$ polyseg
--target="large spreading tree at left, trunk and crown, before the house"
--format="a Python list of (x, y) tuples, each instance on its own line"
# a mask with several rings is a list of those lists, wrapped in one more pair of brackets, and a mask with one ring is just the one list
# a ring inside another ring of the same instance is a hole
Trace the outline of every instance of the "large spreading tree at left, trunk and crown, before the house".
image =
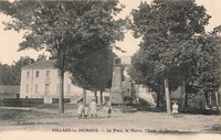
[[(123, 39), (118, 1), (1, 1), (0, 11), (13, 18), (8, 30), (27, 31), (19, 51), (45, 50), (61, 73), (59, 111), (64, 112), (63, 83), (67, 65)], [(94, 44), (94, 45), (91, 45)]]

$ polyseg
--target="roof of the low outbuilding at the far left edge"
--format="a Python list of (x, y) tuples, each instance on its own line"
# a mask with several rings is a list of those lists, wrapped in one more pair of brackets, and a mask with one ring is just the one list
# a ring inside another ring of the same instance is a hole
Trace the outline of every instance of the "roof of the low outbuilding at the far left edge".
[(0, 94), (19, 94), (20, 86), (2, 86), (0, 85)]

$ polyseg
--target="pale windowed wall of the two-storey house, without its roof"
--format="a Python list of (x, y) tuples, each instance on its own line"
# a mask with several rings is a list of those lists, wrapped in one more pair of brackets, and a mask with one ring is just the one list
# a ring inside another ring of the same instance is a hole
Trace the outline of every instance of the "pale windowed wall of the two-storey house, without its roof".
[[(22, 69), (21, 98), (59, 97), (60, 75), (57, 69)], [(71, 83), (70, 74), (64, 75), (64, 97), (82, 94), (82, 88)]]

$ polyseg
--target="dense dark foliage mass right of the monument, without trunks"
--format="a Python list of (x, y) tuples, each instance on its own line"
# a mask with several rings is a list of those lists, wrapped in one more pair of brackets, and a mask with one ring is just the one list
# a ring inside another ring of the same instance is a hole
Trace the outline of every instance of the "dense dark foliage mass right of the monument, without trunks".
[(210, 35), (204, 35), (210, 15), (202, 6), (193, 0), (156, 0), (151, 4), (140, 2), (131, 14), (134, 36), (141, 37), (140, 49), (133, 56), (133, 67), (141, 75), (138, 77), (143, 84), (158, 91), (168, 78), (171, 90), (183, 80), (200, 88), (217, 89), (211, 86), (218, 85), (214, 78), (217, 45)]

